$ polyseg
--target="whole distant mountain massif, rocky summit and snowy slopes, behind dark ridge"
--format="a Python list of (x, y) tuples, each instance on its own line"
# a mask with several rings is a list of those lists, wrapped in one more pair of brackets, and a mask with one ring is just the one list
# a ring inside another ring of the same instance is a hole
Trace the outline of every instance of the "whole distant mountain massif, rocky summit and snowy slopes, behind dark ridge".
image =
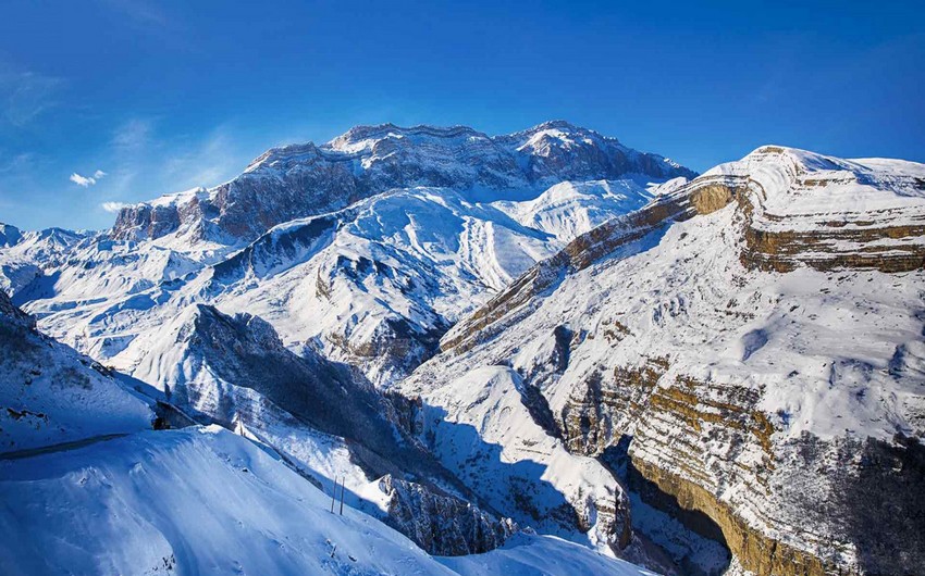
[[(57, 251), (21, 240), (0, 262), (29, 271), (3, 278), (42, 329), (130, 373), (136, 337), (203, 302), (387, 386), (535, 262), (691, 174), (563, 122), (503, 137), (359, 127), (125, 209)], [(181, 215), (146, 220), (160, 210)]]

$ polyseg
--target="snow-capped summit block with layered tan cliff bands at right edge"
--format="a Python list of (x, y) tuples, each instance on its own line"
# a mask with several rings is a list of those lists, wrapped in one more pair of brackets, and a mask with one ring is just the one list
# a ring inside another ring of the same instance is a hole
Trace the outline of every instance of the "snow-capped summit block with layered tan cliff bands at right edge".
[[(881, 272), (925, 265), (925, 209), (916, 202), (925, 193), (925, 174), (918, 165), (899, 162), (901, 166), (885, 168), (877, 161), (807, 160), (775, 147), (758, 149), (743, 164), (725, 177), (752, 189), (741, 197), (747, 265), (777, 272), (800, 264)], [(787, 195), (767, 190), (781, 186)], [(893, 198), (878, 198), (878, 188), (895, 191)], [(850, 195), (853, 201), (839, 203), (834, 195)], [(818, 196), (831, 197), (831, 203)]]

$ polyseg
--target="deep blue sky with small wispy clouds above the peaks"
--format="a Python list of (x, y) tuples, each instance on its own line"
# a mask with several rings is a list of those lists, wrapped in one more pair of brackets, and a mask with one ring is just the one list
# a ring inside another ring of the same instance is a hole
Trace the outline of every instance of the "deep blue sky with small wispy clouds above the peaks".
[(921, 17), (889, 1), (13, 0), (0, 222), (108, 227), (107, 208), (382, 122), (565, 118), (699, 171), (770, 142), (925, 161)]

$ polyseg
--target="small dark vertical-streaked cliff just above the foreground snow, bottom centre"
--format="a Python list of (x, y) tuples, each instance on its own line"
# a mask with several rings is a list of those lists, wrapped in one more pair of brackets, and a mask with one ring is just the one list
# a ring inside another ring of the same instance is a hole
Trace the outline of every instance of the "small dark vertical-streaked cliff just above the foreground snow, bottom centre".
[(497, 519), (465, 500), (439, 494), (421, 485), (386, 475), (379, 489), (387, 497), (388, 525), (434, 555), (480, 554), (494, 550), (517, 531), (509, 518)]

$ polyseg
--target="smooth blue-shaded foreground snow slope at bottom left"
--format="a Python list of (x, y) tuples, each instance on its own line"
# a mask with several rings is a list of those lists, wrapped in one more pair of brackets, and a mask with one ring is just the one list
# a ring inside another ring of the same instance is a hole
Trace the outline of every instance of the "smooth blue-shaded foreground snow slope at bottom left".
[[(39, 574), (649, 574), (552, 538), (432, 559), (218, 426), (0, 460), (0, 572)], [(92, 538), (87, 538), (87, 535)], [(591, 573), (589, 572), (589, 573)]]

